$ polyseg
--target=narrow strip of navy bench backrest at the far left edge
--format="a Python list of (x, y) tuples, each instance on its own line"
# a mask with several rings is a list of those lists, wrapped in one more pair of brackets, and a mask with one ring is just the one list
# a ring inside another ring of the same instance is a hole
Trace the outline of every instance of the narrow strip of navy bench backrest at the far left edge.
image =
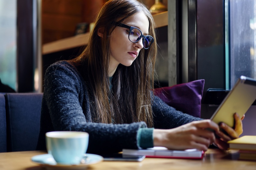
[(2, 93), (0, 93), (0, 152), (6, 152), (5, 99)]

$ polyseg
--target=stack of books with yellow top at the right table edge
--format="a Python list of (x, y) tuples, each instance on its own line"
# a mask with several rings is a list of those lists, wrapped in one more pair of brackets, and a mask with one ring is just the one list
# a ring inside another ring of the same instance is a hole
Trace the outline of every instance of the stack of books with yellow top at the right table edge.
[(228, 141), (230, 149), (239, 150), (239, 159), (256, 160), (256, 136), (243, 136)]

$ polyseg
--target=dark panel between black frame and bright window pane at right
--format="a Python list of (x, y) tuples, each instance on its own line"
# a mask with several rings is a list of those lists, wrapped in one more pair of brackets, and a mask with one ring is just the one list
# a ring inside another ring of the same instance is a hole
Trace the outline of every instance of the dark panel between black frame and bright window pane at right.
[(224, 1), (197, 0), (197, 78), (204, 91), (225, 86)]

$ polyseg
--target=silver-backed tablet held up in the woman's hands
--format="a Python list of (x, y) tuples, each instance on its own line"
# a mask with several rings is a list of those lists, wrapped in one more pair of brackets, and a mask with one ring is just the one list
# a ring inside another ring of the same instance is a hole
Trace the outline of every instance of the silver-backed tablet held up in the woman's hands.
[(256, 80), (241, 76), (233, 89), (221, 102), (211, 120), (217, 124), (226, 123), (234, 127), (234, 114), (242, 117), (256, 99)]

